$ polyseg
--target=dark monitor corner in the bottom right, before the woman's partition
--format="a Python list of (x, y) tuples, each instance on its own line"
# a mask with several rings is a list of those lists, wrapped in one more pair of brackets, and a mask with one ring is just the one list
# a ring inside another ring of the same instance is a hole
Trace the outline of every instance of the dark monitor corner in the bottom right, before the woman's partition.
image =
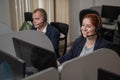
[(120, 75), (105, 69), (98, 69), (98, 80), (120, 80)]

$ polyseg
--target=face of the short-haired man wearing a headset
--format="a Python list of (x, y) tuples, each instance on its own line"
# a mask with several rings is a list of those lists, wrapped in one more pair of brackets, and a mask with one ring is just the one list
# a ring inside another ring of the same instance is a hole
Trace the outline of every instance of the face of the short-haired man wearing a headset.
[(33, 18), (33, 24), (34, 24), (35, 28), (42, 26), (43, 16), (42, 16), (41, 12), (37, 11), (37, 12), (33, 13), (32, 18)]

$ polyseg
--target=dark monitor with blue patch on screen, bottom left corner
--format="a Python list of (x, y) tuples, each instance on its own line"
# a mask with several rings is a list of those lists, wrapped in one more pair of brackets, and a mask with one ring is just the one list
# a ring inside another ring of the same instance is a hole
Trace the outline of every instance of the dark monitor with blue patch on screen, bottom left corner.
[(0, 50), (1, 80), (21, 80), (25, 77), (25, 62)]

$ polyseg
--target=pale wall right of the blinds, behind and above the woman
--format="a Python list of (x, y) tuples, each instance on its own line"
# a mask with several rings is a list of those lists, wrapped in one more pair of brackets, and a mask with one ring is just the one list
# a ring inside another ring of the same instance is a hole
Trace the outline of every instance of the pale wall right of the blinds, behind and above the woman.
[(70, 0), (70, 41), (74, 41), (80, 35), (79, 11), (103, 4), (120, 6), (120, 0)]

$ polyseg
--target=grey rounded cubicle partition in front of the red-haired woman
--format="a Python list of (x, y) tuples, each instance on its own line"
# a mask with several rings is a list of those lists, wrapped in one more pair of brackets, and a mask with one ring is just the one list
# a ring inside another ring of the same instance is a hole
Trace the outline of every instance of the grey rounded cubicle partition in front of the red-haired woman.
[(98, 70), (120, 75), (120, 58), (110, 49), (99, 49), (90, 55), (75, 58), (61, 65), (61, 80), (98, 80)]

